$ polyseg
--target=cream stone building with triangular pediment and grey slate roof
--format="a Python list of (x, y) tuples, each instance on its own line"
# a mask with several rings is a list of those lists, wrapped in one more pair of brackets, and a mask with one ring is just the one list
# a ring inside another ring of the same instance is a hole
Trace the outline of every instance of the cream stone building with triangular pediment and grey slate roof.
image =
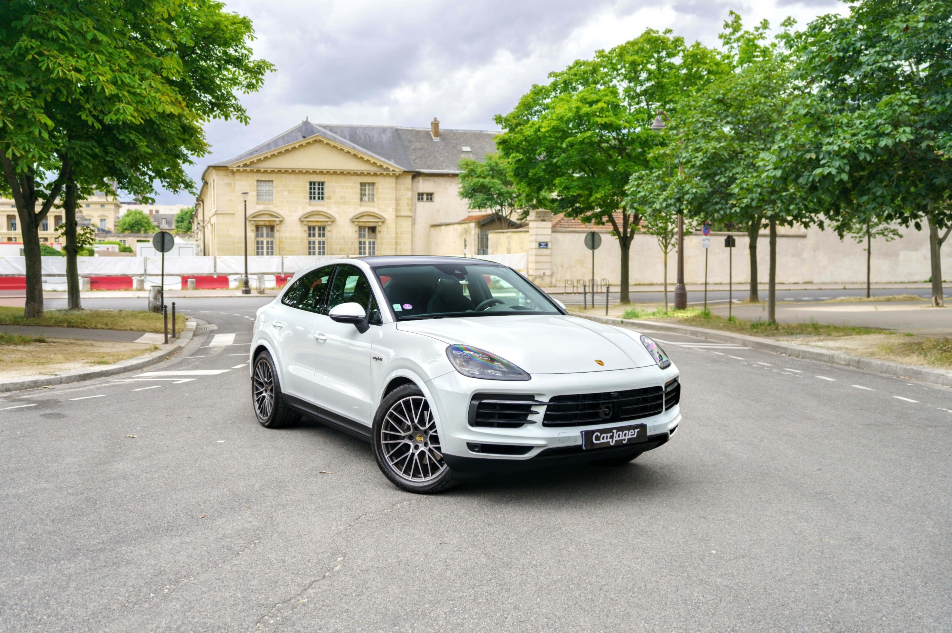
[[(209, 165), (195, 203), (206, 255), (423, 254), (431, 225), (466, 217), (462, 158), (495, 151), (496, 132), (308, 121), (228, 161)], [(474, 251), (475, 252), (475, 251)]]

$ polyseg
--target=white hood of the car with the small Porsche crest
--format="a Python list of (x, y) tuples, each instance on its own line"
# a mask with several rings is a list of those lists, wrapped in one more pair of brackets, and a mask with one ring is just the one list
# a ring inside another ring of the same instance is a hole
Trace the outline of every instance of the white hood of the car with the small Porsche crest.
[(578, 317), (546, 314), (427, 319), (400, 321), (397, 328), (447, 345), (480, 347), (530, 374), (655, 366), (645, 346), (636, 340), (636, 332)]

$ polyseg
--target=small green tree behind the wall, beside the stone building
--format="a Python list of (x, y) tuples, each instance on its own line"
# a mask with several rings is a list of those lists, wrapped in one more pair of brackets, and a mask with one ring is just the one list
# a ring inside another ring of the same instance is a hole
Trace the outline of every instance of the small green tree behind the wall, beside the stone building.
[(467, 208), (487, 209), (506, 220), (512, 219), (513, 214), (517, 220), (526, 219), (528, 211), (505, 158), (499, 154), (486, 154), (482, 161), (464, 158), (459, 167), (459, 195), (466, 200)]

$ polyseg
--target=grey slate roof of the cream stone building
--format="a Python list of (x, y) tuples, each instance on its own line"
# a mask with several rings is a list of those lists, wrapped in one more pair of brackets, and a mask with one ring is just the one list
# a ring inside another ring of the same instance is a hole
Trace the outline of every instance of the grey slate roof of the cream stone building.
[[(496, 151), (494, 137), (498, 133), (476, 129), (441, 129), (440, 140), (434, 141), (429, 128), (318, 126), (303, 121), (256, 148), (210, 167), (227, 167), (272, 149), (320, 135), (407, 171), (459, 173), (457, 165), (461, 158), (483, 160), (487, 153)], [(463, 146), (468, 146), (471, 151), (464, 152)]]

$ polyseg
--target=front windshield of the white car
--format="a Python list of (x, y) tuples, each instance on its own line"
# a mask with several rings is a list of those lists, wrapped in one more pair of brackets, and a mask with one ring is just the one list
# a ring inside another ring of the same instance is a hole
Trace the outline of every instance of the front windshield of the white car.
[(560, 314), (545, 294), (502, 266), (374, 268), (400, 321), (499, 314)]

